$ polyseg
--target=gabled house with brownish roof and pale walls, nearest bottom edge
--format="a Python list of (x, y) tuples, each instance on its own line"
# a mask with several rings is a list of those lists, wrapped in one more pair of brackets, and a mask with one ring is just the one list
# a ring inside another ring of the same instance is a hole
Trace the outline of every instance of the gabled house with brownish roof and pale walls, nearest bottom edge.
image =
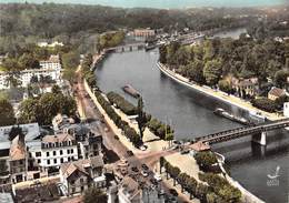
[(60, 166), (60, 182), (67, 195), (82, 193), (90, 186), (104, 187), (106, 176), (101, 155), (63, 163)]

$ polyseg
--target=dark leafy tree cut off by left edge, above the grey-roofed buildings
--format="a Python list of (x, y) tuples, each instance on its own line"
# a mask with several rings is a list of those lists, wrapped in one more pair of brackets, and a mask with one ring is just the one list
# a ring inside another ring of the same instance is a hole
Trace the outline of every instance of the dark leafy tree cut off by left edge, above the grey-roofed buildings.
[(16, 123), (13, 108), (7, 99), (0, 99), (0, 126), (11, 125)]

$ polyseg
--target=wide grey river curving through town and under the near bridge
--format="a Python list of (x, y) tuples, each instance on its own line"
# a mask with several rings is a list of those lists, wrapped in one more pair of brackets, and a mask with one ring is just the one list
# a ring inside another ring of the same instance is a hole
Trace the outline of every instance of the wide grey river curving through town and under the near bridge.
[[(195, 136), (240, 126), (238, 123), (212, 113), (216, 108), (227, 109), (235, 114), (246, 115), (238, 108), (186, 88), (163, 75), (157, 68), (157, 50), (144, 52), (112, 53), (98, 67), (96, 74), (99, 87), (104, 91), (116, 91), (136, 104), (136, 99), (126, 94), (121, 87), (129, 83), (143, 97), (144, 109), (153, 116), (170, 123), (177, 139)], [(268, 145), (252, 144), (250, 138), (213, 145), (226, 156), (231, 176), (246, 189), (268, 203), (288, 202), (289, 133), (271, 132)], [(280, 173), (271, 180), (277, 168)], [(273, 185), (272, 185), (273, 184)]]

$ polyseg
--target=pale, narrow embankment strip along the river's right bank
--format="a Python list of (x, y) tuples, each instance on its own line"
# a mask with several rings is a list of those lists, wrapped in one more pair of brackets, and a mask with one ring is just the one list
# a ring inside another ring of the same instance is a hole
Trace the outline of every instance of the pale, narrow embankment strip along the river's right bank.
[(210, 89), (209, 87), (200, 87), (196, 83), (192, 83), (192, 82), (189, 81), (189, 79), (169, 70), (165, 64), (162, 64), (160, 62), (158, 62), (157, 65), (162, 73), (165, 73), (167, 77), (171, 78), (172, 80), (175, 80), (175, 81), (177, 81), (177, 82), (179, 82), (183, 85), (187, 85), (191, 89), (195, 89), (195, 90), (197, 90), (197, 91), (199, 91), (199, 92), (201, 92), (206, 95), (209, 95), (209, 97), (211, 97), (216, 100), (219, 100), (219, 101), (225, 102), (225, 103), (230, 104), (230, 105), (235, 105), (235, 106), (240, 108), (240, 109), (242, 109), (247, 112), (260, 112), (262, 115), (265, 115), (270, 121), (285, 119), (283, 116), (280, 116), (277, 113), (269, 113), (269, 112), (259, 110), (259, 109), (252, 106), (250, 102), (245, 101), (245, 100), (237, 98), (235, 95), (228, 95), (225, 92)]

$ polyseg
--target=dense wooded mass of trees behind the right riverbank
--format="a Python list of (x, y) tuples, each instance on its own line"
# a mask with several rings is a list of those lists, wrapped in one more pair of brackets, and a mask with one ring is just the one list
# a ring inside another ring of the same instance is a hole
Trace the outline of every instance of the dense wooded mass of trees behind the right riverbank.
[(160, 48), (160, 62), (200, 84), (217, 85), (221, 79), (233, 75), (257, 77), (260, 83), (272, 78), (277, 87), (283, 88), (289, 68), (288, 47), (288, 40), (256, 41), (246, 34), (238, 40), (208, 39), (192, 47), (172, 42)]

